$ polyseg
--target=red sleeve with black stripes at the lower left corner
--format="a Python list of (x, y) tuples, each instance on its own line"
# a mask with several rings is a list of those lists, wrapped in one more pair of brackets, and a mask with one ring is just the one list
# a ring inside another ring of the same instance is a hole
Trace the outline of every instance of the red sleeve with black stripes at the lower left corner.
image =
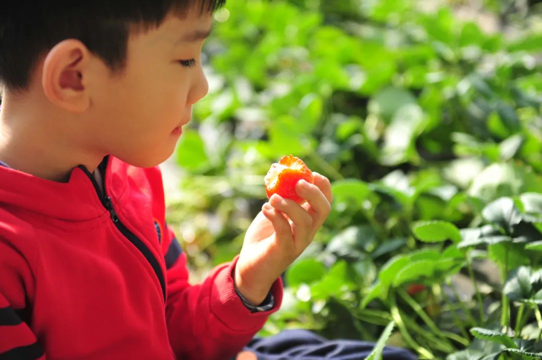
[(46, 360), (27, 324), (27, 288), (33, 277), (26, 259), (2, 237), (0, 274), (0, 359)]

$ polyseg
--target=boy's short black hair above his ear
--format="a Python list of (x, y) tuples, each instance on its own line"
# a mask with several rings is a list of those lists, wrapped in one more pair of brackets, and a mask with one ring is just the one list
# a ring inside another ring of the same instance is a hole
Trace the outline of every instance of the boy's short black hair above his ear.
[(111, 70), (124, 68), (134, 26), (159, 26), (171, 11), (212, 12), (225, 0), (15, 0), (0, 9), (0, 83), (28, 88), (40, 56), (79, 39)]

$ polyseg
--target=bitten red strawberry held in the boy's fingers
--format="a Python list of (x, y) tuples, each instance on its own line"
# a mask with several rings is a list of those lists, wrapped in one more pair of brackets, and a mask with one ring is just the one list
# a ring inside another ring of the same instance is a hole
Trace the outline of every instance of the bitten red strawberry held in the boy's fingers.
[(295, 184), (301, 179), (314, 184), (314, 176), (307, 165), (298, 157), (293, 155), (283, 156), (279, 163), (271, 165), (264, 178), (267, 197), (279, 194), (283, 198), (292, 199), (298, 204), (305, 202), (295, 192)]

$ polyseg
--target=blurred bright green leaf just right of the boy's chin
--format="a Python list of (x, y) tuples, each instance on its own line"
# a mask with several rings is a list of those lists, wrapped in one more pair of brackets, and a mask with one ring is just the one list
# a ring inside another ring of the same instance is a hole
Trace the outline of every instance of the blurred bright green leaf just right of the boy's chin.
[(188, 129), (180, 137), (177, 146), (177, 164), (190, 172), (199, 172), (209, 166), (203, 139), (196, 130)]

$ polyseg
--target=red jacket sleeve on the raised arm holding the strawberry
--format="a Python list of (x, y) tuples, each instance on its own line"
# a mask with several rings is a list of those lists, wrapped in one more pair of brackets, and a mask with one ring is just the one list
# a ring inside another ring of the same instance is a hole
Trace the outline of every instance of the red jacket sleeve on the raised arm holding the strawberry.
[[(151, 183), (153, 212), (160, 217), (160, 212), (165, 212), (162, 176), (154, 178)], [(280, 278), (271, 289), (275, 298), (273, 309), (251, 313), (235, 293), (231, 274), (237, 257), (230, 263), (217, 266), (203, 283), (192, 285), (189, 283), (186, 254), (165, 220), (162, 229), (160, 245), (167, 269), (166, 321), (173, 352), (182, 359), (230, 358), (241, 351), (263, 327), (269, 315), (280, 308)]]

